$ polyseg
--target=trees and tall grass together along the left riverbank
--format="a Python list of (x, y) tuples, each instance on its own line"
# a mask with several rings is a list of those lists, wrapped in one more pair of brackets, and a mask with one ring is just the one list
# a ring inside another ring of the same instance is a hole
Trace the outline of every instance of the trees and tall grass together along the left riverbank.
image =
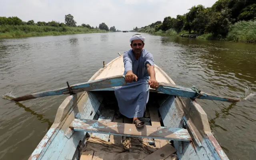
[(120, 32), (115, 26), (108, 28), (105, 23), (99, 24), (99, 27), (93, 27), (89, 24), (76, 26), (76, 21), (71, 14), (65, 15), (65, 23), (56, 21), (37, 22), (29, 20), (23, 22), (18, 17), (0, 17), (0, 38), (14, 37), (32, 37), (48, 35), (65, 35), (65, 34), (84, 34), (99, 32)]

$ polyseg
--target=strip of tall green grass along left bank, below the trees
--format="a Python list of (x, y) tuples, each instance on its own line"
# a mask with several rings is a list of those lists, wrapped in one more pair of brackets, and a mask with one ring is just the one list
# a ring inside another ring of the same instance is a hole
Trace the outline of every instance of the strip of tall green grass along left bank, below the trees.
[(83, 34), (107, 32), (100, 29), (86, 27), (53, 27), (53, 26), (30, 26), (30, 25), (0, 25), (0, 38), (50, 36), (63, 34)]

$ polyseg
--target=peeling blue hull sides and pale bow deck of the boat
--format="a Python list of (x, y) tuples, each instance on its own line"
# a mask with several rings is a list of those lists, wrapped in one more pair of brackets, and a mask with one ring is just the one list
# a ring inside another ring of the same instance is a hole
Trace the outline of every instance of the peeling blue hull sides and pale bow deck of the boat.
[[(158, 81), (175, 84), (157, 65), (155, 65), (155, 70)], [(121, 55), (99, 69), (89, 81), (122, 75), (122, 73)], [(78, 160), (89, 134), (74, 131), (69, 128), (69, 125), (74, 119), (97, 120), (104, 107), (104, 98), (108, 99), (106, 96), (114, 94), (113, 91), (114, 87), (111, 87), (68, 96), (58, 108), (54, 123), (29, 160)], [(108, 93), (103, 94), (104, 92)], [(154, 89), (150, 89), (150, 95), (157, 100), (157, 109), (164, 126), (186, 128), (192, 137), (190, 142), (176, 140), (173, 142), (179, 160), (228, 160), (211, 133), (206, 113), (196, 101), (190, 98), (159, 94)]]

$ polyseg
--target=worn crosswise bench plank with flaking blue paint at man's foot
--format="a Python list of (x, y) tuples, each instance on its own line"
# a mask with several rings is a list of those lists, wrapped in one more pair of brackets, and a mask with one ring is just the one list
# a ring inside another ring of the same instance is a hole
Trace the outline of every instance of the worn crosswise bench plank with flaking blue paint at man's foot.
[(136, 128), (134, 124), (120, 122), (108, 122), (88, 119), (74, 119), (69, 128), (75, 131), (114, 134), (122, 136), (134, 136), (144, 138), (156, 138), (178, 141), (190, 141), (188, 130), (183, 128), (166, 128), (156, 126), (144, 126)]

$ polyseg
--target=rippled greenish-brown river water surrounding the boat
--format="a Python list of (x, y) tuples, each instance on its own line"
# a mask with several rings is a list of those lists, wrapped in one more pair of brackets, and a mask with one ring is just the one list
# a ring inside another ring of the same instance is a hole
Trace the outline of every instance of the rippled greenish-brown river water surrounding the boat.
[[(0, 95), (20, 96), (86, 82), (130, 49), (135, 33), (0, 40)], [(238, 103), (198, 100), (231, 160), (256, 157), (256, 45), (144, 34), (145, 49), (178, 85), (196, 85)], [(254, 96), (255, 95), (255, 96)], [(0, 98), (0, 160), (26, 160), (54, 122), (66, 95), (21, 103)]]

